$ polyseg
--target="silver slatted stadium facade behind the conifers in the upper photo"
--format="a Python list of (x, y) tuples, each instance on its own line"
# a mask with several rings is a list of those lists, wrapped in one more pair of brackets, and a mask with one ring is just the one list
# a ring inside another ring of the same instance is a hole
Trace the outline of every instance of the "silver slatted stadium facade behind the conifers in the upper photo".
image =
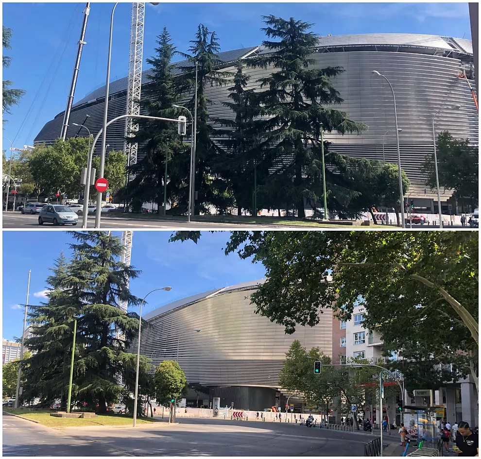
[[(219, 58), (225, 71), (234, 71), (236, 60), (267, 52), (262, 46), (250, 47), (221, 52)], [(325, 138), (332, 142), (331, 149), (353, 157), (397, 162), (392, 92), (384, 79), (373, 75), (372, 70), (389, 78), (396, 95), (398, 126), (402, 129), (399, 136), (401, 166), (412, 183), (409, 197), (414, 199), (415, 207), (437, 212), (435, 192), (425, 189), (421, 173), (421, 165), (433, 149), (431, 121), (434, 114), (442, 107), (460, 105), (459, 110), (444, 110), (436, 117), (436, 133), (448, 130), (453, 136), (468, 138), (474, 144), (479, 141), (478, 113), (466, 80), (459, 77), (465, 72), (475, 86), (471, 41), (420, 34), (328, 36), (319, 39), (312, 58), (316, 68), (344, 68), (344, 73), (333, 78), (334, 87), (344, 99), (336, 108), (349, 113), (351, 119), (367, 124), (368, 130), (359, 136), (341, 136), (333, 132)], [(175, 72), (179, 73), (186, 65), (186, 61), (176, 63)], [(270, 71), (272, 69), (247, 69), (251, 87), (258, 86), (256, 80)], [(150, 72), (143, 72), (143, 84), (148, 82), (146, 76)], [(109, 120), (125, 113), (126, 90), (127, 78), (110, 84)], [(83, 123), (88, 114), (86, 126), (92, 134), (97, 133), (102, 125), (104, 95), (105, 89), (101, 87), (76, 102), (70, 121)], [(221, 103), (227, 101), (226, 86), (207, 88), (206, 96), (212, 101), (209, 111), (213, 118), (233, 118), (233, 113)], [(45, 124), (34, 143), (52, 143), (60, 136), (62, 120), (63, 112)], [(123, 149), (124, 125), (124, 121), (119, 121), (108, 128), (109, 150)], [(393, 131), (385, 135), (388, 130)], [(86, 135), (84, 131), (81, 135)], [(68, 137), (76, 134), (77, 129), (69, 129)], [(98, 152), (100, 143), (96, 148)], [(447, 213), (447, 199), (451, 193), (442, 190), (442, 194), (443, 210)]]

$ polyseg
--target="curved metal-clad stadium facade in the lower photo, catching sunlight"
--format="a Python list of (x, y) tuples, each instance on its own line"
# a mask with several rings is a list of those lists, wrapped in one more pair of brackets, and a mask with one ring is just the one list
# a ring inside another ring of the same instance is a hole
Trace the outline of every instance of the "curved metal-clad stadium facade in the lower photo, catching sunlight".
[[(179, 365), (188, 381), (206, 386), (277, 387), (293, 340), (331, 356), (331, 309), (324, 309), (315, 327), (299, 326), (286, 335), (283, 326), (255, 314), (256, 306), (250, 304), (254, 291), (255, 287), (227, 289), (151, 317), (142, 332), (140, 352), (158, 365), (177, 360), (178, 344)], [(136, 348), (133, 342), (131, 350)]]

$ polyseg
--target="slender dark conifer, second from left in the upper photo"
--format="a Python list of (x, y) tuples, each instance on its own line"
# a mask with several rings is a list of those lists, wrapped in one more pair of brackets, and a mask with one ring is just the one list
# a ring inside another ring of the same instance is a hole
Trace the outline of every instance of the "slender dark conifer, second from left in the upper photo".
[(209, 125), (209, 112), (206, 98), (206, 87), (222, 86), (228, 83), (230, 73), (221, 72), (219, 40), (215, 32), (209, 32), (206, 26), (200, 24), (195, 40), (189, 53), (178, 52), (189, 61), (189, 65), (182, 68), (182, 73), (175, 79), (175, 87), (182, 97), (189, 97), (187, 102), (192, 115), (194, 115), (195, 99), (195, 69), (197, 63), (197, 138), (194, 189), (198, 198), (195, 202), (195, 213), (208, 213), (208, 204), (223, 213), (233, 204), (228, 193), (228, 184), (223, 176), (216, 173), (214, 165), (217, 163), (222, 151), (213, 142), (214, 129)]

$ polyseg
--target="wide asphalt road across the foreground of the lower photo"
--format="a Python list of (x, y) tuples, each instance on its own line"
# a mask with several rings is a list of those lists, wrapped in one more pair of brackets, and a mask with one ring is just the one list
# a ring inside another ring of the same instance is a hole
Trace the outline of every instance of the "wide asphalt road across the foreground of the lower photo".
[[(49, 429), (3, 417), (3, 456), (347, 456), (364, 455), (363, 432), (296, 424), (179, 418), (179, 424)], [(398, 442), (396, 436), (386, 443)]]

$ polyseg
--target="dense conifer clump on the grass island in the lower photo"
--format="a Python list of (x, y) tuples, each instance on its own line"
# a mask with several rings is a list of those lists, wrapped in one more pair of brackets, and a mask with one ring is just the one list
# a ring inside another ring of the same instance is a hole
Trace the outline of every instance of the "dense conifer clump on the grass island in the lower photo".
[[(71, 232), (71, 260), (59, 258), (48, 283), (52, 287), (46, 305), (34, 306), (30, 322), (39, 325), (38, 336), (28, 340), (35, 351), (27, 380), (33, 396), (53, 400), (68, 387), (73, 320), (77, 337), (72, 395), (78, 403), (105, 412), (125, 391), (134, 390), (137, 356), (125, 351), (137, 337), (138, 315), (119, 306), (136, 306), (127, 280), (140, 272), (120, 262), (123, 247), (108, 232)], [(120, 336), (117, 331), (120, 331)], [(141, 371), (148, 372), (146, 358)], [(122, 388), (120, 377), (125, 384)]]

